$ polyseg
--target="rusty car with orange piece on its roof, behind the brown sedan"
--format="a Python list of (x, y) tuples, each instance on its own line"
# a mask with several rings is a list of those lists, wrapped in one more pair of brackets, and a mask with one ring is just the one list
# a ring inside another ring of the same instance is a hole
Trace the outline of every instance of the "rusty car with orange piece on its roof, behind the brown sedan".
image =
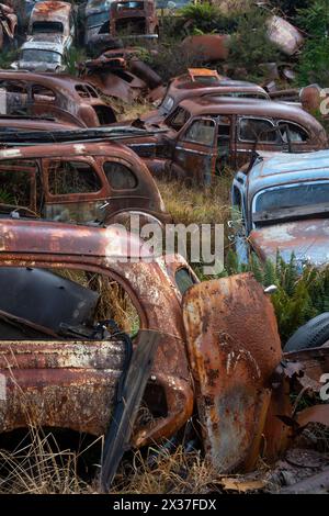
[(186, 75), (172, 79), (159, 108), (143, 115), (147, 123), (160, 123), (182, 100), (197, 97), (232, 97), (270, 100), (266, 91), (252, 82), (220, 77), (216, 70), (189, 69)]

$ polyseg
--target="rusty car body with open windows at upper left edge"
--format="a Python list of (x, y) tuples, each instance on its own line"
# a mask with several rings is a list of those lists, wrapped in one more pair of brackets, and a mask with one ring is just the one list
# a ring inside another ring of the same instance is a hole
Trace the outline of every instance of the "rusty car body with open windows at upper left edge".
[(1, 105), (9, 115), (46, 115), (79, 127), (106, 125), (116, 120), (112, 108), (91, 85), (69, 76), (0, 71), (0, 89), (5, 93)]

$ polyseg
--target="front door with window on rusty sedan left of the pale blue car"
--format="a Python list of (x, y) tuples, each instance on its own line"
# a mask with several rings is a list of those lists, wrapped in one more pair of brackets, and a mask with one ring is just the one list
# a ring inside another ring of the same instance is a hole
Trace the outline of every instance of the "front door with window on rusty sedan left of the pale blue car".
[(217, 158), (216, 134), (216, 119), (194, 117), (178, 135), (171, 172), (189, 182), (209, 186)]

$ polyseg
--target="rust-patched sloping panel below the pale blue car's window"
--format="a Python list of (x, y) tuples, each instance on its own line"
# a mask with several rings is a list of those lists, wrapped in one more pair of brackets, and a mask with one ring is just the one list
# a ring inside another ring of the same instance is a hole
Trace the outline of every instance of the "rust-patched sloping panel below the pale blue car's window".
[(329, 262), (329, 220), (286, 222), (253, 229), (249, 242), (261, 260), (275, 259), (279, 251), (288, 261), (294, 253), (299, 262), (321, 266)]

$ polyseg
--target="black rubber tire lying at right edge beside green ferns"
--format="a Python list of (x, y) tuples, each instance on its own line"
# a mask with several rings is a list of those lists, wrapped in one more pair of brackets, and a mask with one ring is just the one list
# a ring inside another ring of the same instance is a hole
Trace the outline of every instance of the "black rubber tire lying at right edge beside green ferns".
[(319, 348), (329, 340), (329, 312), (308, 321), (300, 326), (284, 346), (284, 352)]

